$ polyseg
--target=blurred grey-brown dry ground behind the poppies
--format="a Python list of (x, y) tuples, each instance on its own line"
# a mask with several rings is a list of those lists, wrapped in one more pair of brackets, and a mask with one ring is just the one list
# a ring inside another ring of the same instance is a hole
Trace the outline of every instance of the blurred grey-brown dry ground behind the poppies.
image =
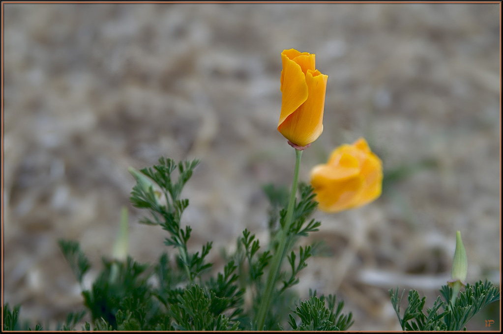
[[(499, 284), (497, 3), (4, 9), (4, 299), (23, 317), (80, 309), (56, 241), (78, 240), (99, 269), (128, 205), (128, 166), (202, 160), (185, 222), (194, 245), (215, 241), (212, 256), (245, 227), (266, 235), (261, 185), (290, 186), (293, 174), (294, 152), (276, 130), (280, 54), (290, 48), (315, 53), (328, 75), (324, 132), (303, 155), (301, 180), (360, 136), (385, 172), (434, 163), (385, 183), (367, 206), (317, 213), (312, 240), (333, 256), (310, 260), (301, 295), (337, 293), (352, 330), (398, 330), (387, 290), (414, 287), (433, 302), (456, 230), (468, 281)], [(130, 254), (154, 261), (164, 237), (129, 208)], [(484, 329), (484, 317), (469, 329)]]

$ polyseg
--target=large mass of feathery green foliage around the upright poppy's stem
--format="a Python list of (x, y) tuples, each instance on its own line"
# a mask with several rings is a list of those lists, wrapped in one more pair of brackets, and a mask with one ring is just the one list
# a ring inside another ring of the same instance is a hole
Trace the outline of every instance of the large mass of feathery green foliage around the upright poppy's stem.
[[(261, 245), (247, 229), (237, 240), (233, 254), (225, 255), (223, 269), (216, 276), (209, 274), (214, 264), (207, 260), (212, 242), (203, 244), (200, 251), (189, 252), (187, 247), (192, 229), (182, 226), (182, 215), (189, 200), (182, 191), (190, 179), (198, 160), (176, 163), (160, 158), (157, 165), (140, 171), (130, 168), (136, 179), (130, 201), (145, 209), (147, 215), (141, 224), (159, 226), (166, 231), (164, 240), (170, 253), (164, 251), (153, 264), (140, 264), (131, 257), (125, 260), (102, 259), (102, 270), (89, 289), (83, 287), (83, 277), (91, 264), (75, 241), (59, 240), (59, 247), (82, 288), (86, 310), (69, 313), (56, 330), (74, 330), (83, 322), (81, 330), (256, 330), (254, 323), (266, 286), (267, 273), (274, 254), (278, 252), (278, 231), (285, 224), (288, 192), (272, 185), (264, 187), (271, 207), (269, 209), (270, 242)], [(296, 247), (299, 238), (318, 230), (319, 221), (308, 220), (317, 203), (313, 189), (299, 186), (299, 199), (295, 204), (284, 267), (273, 289), (271, 312), (265, 321), (268, 330), (292, 329), (345, 330), (351, 324), (351, 313), (341, 313), (344, 303), (336, 308), (335, 297), (311, 296), (297, 306), (294, 314), (301, 319), (297, 324), (289, 314), (297, 305), (298, 295), (292, 289), (299, 282), (299, 273), (308, 266), (308, 259), (316, 245)], [(127, 243), (126, 243), (127, 245)], [(251, 301), (245, 303), (245, 294)], [(20, 325), (19, 306), (4, 308), (4, 330), (30, 329), (28, 323)], [(36, 330), (42, 329), (37, 324)]]

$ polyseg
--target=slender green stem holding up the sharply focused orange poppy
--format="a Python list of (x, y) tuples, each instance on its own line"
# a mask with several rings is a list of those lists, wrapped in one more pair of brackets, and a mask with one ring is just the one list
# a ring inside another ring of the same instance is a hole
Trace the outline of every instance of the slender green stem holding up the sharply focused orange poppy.
[(266, 289), (264, 290), (264, 294), (262, 295), (261, 306), (256, 318), (258, 330), (263, 330), (264, 322), (266, 321), (267, 311), (271, 307), (273, 291), (274, 287), (276, 286), (276, 281), (278, 279), (281, 263), (283, 262), (283, 258), (285, 257), (286, 253), (285, 248), (287, 242), (287, 235), (288, 232), (290, 231), (290, 226), (292, 225), (292, 217), (295, 206), (295, 195), (297, 193), (297, 183), (299, 179), (299, 167), (301, 157), (302, 157), (302, 151), (295, 149), (295, 172), (293, 174), (292, 192), (290, 193), (290, 201), (288, 203), (285, 225), (283, 226), (283, 234), (281, 236), (278, 250), (274, 254), (271, 269), (267, 277)]

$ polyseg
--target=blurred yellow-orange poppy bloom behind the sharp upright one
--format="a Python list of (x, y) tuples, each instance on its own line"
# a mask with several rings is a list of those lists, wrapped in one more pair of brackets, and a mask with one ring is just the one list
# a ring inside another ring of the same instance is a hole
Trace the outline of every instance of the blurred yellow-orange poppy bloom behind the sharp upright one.
[(381, 195), (382, 162), (360, 138), (333, 150), (326, 164), (313, 167), (311, 184), (323, 211), (361, 206)]

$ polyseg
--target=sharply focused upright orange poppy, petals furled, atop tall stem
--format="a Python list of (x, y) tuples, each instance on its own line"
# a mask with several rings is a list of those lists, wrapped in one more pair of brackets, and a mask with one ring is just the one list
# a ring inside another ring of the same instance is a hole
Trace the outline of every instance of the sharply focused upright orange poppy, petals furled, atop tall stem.
[(314, 54), (283, 50), (281, 115), (278, 131), (290, 142), (306, 146), (323, 132), (327, 75), (314, 67)]

